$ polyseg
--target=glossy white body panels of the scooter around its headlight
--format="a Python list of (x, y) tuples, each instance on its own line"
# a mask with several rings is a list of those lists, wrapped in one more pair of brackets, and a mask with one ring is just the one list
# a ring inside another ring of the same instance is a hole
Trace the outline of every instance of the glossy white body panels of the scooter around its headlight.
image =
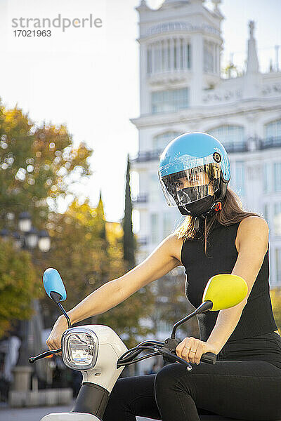
[[(82, 384), (86, 382), (90, 387), (97, 386), (103, 388), (107, 394), (110, 394), (115, 382), (124, 369), (124, 367), (117, 368), (117, 360), (127, 351), (126, 345), (114, 330), (103, 325), (86, 325), (69, 328), (65, 331), (65, 334), (72, 332), (81, 333), (86, 330), (90, 330), (98, 338), (98, 355), (96, 364), (91, 370), (79, 370), (83, 375)], [(65, 349), (63, 346), (62, 348), (63, 361), (66, 362)], [(95, 393), (94, 390), (93, 393)], [(69, 412), (45, 415), (41, 418), (41, 421), (100, 421), (100, 418), (91, 413)]]

